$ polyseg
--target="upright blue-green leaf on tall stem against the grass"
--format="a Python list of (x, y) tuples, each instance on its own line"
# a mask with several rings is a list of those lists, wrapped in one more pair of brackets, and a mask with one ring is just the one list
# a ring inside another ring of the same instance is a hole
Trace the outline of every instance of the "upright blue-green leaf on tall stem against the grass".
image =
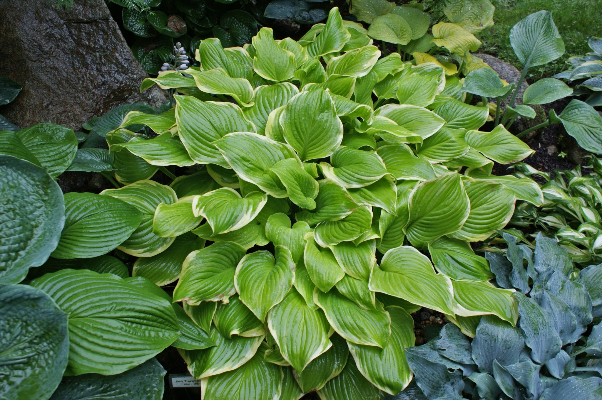
[(550, 11), (538, 11), (510, 29), (510, 45), (521, 64), (536, 67), (563, 55), (565, 46)]

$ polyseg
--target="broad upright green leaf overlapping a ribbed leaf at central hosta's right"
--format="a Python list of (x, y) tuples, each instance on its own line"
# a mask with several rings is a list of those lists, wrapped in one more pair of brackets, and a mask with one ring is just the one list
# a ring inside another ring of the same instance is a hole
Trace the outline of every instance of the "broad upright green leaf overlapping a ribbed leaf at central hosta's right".
[(405, 231), (414, 246), (459, 231), (470, 213), (470, 201), (457, 172), (419, 184), (409, 207)]

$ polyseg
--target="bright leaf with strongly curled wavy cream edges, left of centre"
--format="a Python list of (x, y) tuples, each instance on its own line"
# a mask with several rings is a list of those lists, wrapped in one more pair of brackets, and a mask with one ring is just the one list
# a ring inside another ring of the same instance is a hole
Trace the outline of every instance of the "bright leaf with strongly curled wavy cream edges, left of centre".
[(212, 190), (193, 199), (194, 216), (203, 216), (214, 235), (236, 231), (251, 222), (267, 202), (265, 193), (252, 192), (244, 198), (229, 187)]

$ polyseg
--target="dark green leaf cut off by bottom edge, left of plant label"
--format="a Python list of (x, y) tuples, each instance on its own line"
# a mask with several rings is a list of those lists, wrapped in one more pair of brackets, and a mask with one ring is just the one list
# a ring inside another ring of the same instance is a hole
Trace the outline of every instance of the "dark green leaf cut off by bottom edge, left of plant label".
[[(126, 8), (124, 9), (126, 10)], [(151, 359), (119, 375), (86, 374), (64, 377), (51, 400), (131, 399), (161, 400), (166, 371)]]

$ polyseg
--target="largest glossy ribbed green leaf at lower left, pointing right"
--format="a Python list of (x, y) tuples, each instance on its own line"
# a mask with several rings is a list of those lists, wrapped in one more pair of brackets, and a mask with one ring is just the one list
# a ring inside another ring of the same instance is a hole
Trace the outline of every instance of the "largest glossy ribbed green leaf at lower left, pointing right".
[[(62, 270), (31, 281), (69, 314), (67, 375), (114, 375), (179, 336), (172, 305), (113, 274)], [(139, 332), (143, 331), (144, 335)]]

